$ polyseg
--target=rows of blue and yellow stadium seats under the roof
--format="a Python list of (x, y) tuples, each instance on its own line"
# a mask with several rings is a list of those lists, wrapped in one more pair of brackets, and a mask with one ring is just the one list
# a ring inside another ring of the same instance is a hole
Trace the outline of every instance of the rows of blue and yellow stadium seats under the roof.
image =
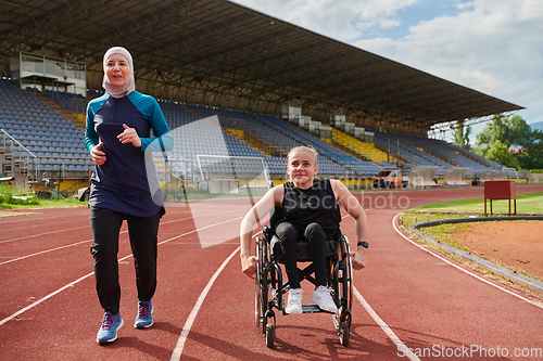
[[(38, 159), (35, 165), (29, 165), (28, 171), (61, 168), (65, 171), (86, 171), (89, 167), (92, 168), (93, 164), (84, 145), (84, 130), (77, 129), (61, 113), (40, 101), (35, 95), (36, 91), (16, 89), (10, 81), (0, 80), (0, 128), (16, 140), (13, 155)], [(46, 93), (66, 109), (85, 108), (87, 99), (103, 94), (102, 91), (89, 90), (85, 99), (66, 92), (48, 90)], [(452, 167), (467, 167), (475, 172), (501, 168), (496, 163), (439, 140), (374, 131), (374, 146), (333, 129), (332, 144), (337, 142), (353, 154), (358, 154), (363, 159), (361, 160), (272, 115), (171, 101), (159, 101), (159, 104), (175, 141), (175, 147), (168, 153), (168, 157), (172, 162), (177, 162), (177, 170), (184, 176), (199, 177), (195, 172), (198, 155), (204, 154), (263, 158), (273, 178), (283, 178), (287, 167), (285, 155), (291, 147), (299, 145), (312, 145), (317, 150), (319, 173), (325, 177), (371, 178), (381, 169), (394, 169), (396, 160), (403, 163), (404, 168), (413, 168), (415, 165), (439, 167), (438, 176)], [(213, 116), (217, 116), (218, 123), (210, 120)], [(251, 138), (261, 143), (252, 143)], [(388, 154), (378, 147), (390, 147), (393, 151)], [(401, 159), (392, 156), (397, 153)], [(250, 162), (238, 164), (236, 171), (248, 172), (251, 166)], [(206, 168), (206, 171), (212, 170), (220, 171), (216, 165)]]

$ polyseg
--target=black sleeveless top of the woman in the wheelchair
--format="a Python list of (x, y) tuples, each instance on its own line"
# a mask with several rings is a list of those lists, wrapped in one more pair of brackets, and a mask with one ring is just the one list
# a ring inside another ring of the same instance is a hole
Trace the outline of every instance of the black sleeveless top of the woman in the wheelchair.
[(319, 223), (333, 237), (341, 222), (341, 212), (329, 179), (315, 179), (308, 189), (298, 189), (294, 183), (283, 183), (282, 219), (302, 234), (310, 223)]

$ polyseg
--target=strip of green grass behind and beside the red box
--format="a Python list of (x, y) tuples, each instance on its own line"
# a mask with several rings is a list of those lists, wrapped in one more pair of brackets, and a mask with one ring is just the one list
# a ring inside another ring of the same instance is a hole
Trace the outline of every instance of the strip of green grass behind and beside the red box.
[[(415, 208), (418, 211), (460, 211), (460, 212), (484, 212), (484, 198), (457, 199), (442, 203), (429, 204)], [(487, 201), (487, 211), (490, 212), (490, 201)], [(509, 201), (492, 201), (492, 212), (503, 214), (509, 211)], [(512, 212), (514, 203), (512, 201)], [(517, 195), (517, 214), (543, 214), (543, 192)]]

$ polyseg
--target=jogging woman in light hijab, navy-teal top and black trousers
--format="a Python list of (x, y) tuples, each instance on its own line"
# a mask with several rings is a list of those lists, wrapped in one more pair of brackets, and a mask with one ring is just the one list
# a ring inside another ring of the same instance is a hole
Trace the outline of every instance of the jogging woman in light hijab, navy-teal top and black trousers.
[(153, 324), (157, 233), (165, 209), (152, 152), (174, 147), (156, 100), (135, 90), (130, 53), (124, 48), (111, 48), (103, 57), (103, 69), (105, 93), (89, 102), (85, 131), (85, 145), (96, 165), (89, 195), (93, 236), (90, 252), (98, 298), (105, 311), (97, 335), (99, 344), (114, 341), (124, 323), (117, 252), (125, 219), (139, 299), (134, 326), (146, 328)]

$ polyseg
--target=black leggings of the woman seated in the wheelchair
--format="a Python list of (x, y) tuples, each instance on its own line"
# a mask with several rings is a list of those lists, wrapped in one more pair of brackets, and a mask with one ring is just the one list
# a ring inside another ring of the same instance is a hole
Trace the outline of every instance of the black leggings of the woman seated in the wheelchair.
[(303, 235), (291, 223), (282, 222), (276, 228), (276, 234), (281, 241), (282, 261), (289, 278), (290, 288), (300, 288), (300, 275), (296, 267), (296, 243), (310, 242), (311, 257), (315, 270), (315, 285), (326, 285), (326, 240), (328, 235), (318, 223), (310, 223)]

